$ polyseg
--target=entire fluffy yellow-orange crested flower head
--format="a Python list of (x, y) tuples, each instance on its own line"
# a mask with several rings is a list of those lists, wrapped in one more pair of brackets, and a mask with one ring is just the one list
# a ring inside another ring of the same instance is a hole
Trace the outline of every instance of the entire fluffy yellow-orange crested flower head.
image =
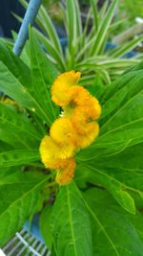
[(77, 85), (79, 72), (61, 74), (51, 86), (52, 101), (62, 107), (62, 116), (55, 120), (40, 145), (42, 162), (56, 170), (56, 182), (69, 184), (75, 170), (74, 153), (92, 144), (98, 136), (95, 121), (101, 114), (98, 101), (83, 86)]

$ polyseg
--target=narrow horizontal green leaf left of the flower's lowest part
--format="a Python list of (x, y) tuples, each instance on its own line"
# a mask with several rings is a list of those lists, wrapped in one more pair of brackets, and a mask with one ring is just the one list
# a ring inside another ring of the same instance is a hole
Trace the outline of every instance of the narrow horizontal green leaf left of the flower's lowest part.
[(9, 150), (0, 152), (0, 167), (10, 167), (31, 164), (39, 160), (40, 155), (35, 150)]

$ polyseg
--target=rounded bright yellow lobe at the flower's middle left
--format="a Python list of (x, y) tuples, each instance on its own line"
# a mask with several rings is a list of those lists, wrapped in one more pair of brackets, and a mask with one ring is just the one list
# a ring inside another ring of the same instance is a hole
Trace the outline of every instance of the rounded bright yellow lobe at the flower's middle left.
[(55, 120), (50, 129), (51, 138), (60, 145), (71, 145), (75, 150), (76, 131), (72, 126), (72, 122), (67, 117), (60, 117)]

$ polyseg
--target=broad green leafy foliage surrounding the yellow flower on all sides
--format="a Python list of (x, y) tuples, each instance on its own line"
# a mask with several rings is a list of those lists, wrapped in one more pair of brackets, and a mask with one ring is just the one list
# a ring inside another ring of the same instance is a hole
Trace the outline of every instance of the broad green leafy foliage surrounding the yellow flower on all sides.
[(143, 64), (88, 87), (102, 105), (100, 135), (76, 154), (74, 181), (59, 188), (39, 155), (60, 113), (51, 102), (58, 71), (31, 31), (29, 44), (31, 69), (0, 42), (0, 90), (18, 105), (0, 103), (0, 246), (40, 212), (51, 255), (141, 256)]

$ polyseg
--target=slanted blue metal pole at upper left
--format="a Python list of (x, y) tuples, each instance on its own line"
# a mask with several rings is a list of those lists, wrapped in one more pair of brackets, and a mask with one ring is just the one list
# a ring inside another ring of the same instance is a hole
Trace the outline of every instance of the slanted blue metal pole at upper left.
[(31, 26), (34, 23), (36, 14), (39, 11), (42, 0), (31, 0), (28, 6), (27, 12), (24, 16), (23, 23), (20, 27), (17, 39), (13, 47), (13, 53), (17, 56), (21, 54), (21, 51), (25, 45), (26, 40), (29, 36), (29, 24)]

